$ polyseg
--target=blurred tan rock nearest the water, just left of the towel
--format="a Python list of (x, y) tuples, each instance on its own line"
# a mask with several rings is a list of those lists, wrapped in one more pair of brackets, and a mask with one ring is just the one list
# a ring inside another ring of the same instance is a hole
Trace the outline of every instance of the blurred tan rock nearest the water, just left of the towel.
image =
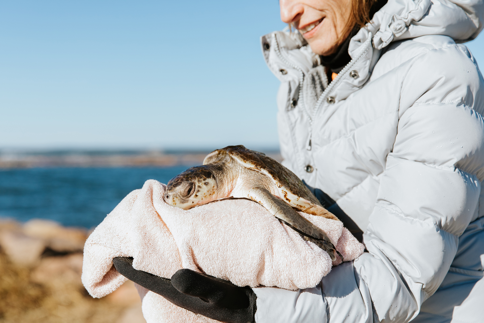
[(82, 251), (87, 231), (65, 228), (51, 220), (32, 219), (23, 225), (23, 231), (30, 237), (44, 239), (46, 246), (58, 252)]

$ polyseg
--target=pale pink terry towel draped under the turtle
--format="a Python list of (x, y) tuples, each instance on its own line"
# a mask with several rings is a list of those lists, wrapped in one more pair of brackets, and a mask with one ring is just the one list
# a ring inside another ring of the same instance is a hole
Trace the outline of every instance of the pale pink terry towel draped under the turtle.
[[(113, 267), (114, 257), (134, 257), (135, 269), (161, 277), (189, 268), (238, 286), (289, 290), (314, 287), (330, 272), (332, 262), (325, 251), (302, 240), (256, 202), (223, 200), (182, 210), (163, 200), (165, 187), (146, 181), (91, 233), (84, 246), (82, 282), (93, 297), (103, 297), (126, 281)], [(344, 261), (363, 253), (364, 246), (341, 222), (301, 215), (327, 233)], [(213, 321), (139, 290), (145, 318), (153, 317), (149, 322)]]

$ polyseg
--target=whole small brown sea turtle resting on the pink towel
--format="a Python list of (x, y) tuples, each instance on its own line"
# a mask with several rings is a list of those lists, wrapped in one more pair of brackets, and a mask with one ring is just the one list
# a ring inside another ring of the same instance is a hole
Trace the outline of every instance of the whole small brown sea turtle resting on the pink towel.
[(337, 251), (326, 233), (296, 210), (333, 220), (338, 218), (321, 206), (292, 171), (242, 145), (215, 150), (205, 157), (202, 166), (172, 178), (163, 198), (166, 203), (184, 210), (226, 198), (253, 200), (335, 259)]

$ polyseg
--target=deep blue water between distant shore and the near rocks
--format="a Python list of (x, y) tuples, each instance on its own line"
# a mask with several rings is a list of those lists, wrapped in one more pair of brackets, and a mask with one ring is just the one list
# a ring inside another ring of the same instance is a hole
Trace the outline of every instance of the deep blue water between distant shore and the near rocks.
[(0, 217), (55, 220), (92, 228), (149, 179), (167, 183), (187, 166), (0, 170)]

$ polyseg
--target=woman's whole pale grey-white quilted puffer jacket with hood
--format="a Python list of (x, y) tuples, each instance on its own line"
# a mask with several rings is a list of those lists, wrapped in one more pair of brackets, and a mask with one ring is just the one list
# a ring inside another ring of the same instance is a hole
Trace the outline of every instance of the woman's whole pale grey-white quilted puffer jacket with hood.
[(482, 0), (389, 0), (329, 85), (299, 34), (262, 37), (284, 164), (369, 253), (306, 291), (324, 297), (256, 289), (258, 323), (484, 322), (484, 82), (458, 44), (483, 14)]

